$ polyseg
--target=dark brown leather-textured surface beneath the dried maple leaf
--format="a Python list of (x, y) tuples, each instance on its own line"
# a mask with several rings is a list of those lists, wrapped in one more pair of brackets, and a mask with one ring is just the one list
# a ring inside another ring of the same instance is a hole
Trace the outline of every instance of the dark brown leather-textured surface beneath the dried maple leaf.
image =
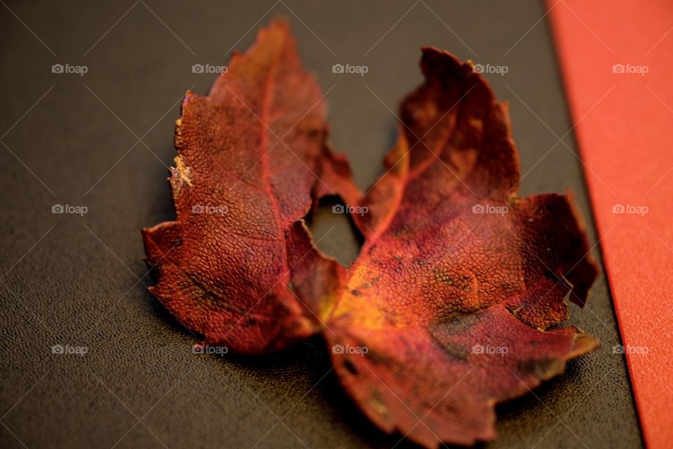
[[(144, 286), (140, 228), (172, 217), (165, 177), (178, 102), (189, 88), (205, 93), (215, 76), (191, 66), (222, 65), (230, 47), (247, 48), (247, 30), (272, 3), (7, 6), (25, 25), (0, 8), (0, 446), (395, 445), (400, 436), (380, 434), (344, 396), (321, 340), (264, 359), (196, 355), (198, 338)], [(572, 125), (548, 27), (535, 25), (544, 12), (514, 1), (287, 1), (259, 23), (276, 13), (290, 18), (306, 67), (329, 91), (332, 142), (360, 187), (380, 172), (394, 139), (395, 116), (382, 102), (395, 110), (421, 80), (420, 46), (507, 65), (505, 76), (487, 78), (510, 101), (522, 194), (572, 189), (590, 219), (572, 133), (557, 144)], [(88, 72), (53, 74), (55, 63)], [(334, 74), (336, 63), (369, 72)], [(88, 212), (53, 214), (57, 203)], [(347, 263), (358, 240), (330, 210), (316, 214), (315, 238)], [(597, 246), (593, 252), (600, 257)], [(534, 395), (499, 406), (498, 439), (485, 446), (641, 447), (625, 363), (612, 351), (619, 341), (603, 276), (587, 307), (571, 305), (571, 323), (603, 349)], [(87, 354), (53, 354), (55, 344)]]

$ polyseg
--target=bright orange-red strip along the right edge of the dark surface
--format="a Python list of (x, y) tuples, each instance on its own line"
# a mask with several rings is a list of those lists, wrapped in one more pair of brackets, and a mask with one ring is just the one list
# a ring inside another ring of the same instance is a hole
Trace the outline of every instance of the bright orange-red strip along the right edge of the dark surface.
[(668, 449), (673, 2), (548, 6), (644, 438), (649, 448)]

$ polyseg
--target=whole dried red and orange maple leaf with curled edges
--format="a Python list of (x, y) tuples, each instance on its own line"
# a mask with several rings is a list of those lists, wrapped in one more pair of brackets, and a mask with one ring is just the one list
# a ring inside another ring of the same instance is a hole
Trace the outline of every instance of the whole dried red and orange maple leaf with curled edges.
[[(508, 109), (482, 76), (434, 48), (421, 68), (386, 173), (361, 196), (325, 145), (325, 105), (287, 25), (273, 22), (208, 97), (187, 94), (177, 220), (144, 240), (154, 293), (206, 343), (259, 354), (322, 333), (383, 431), (472, 444), (494, 438), (495, 403), (599, 345), (559, 326), (564, 298), (583, 306), (597, 268), (568, 196), (517, 196)], [(365, 243), (348, 270), (303, 221), (335, 193), (368, 210), (353, 216)]]

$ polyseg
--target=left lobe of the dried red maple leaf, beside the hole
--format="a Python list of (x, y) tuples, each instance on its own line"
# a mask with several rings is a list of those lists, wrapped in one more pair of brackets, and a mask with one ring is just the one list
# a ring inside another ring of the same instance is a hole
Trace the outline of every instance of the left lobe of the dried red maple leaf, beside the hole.
[[(345, 270), (311, 249), (302, 217), (314, 191), (356, 192), (325, 145), (325, 109), (283, 22), (234, 54), (208, 96), (186, 93), (169, 178), (177, 217), (143, 236), (151, 291), (208, 344), (258, 354), (319, 330), (300, 298), (332, 295)], [(304, 291), (305, 264), (325, 283)]]

